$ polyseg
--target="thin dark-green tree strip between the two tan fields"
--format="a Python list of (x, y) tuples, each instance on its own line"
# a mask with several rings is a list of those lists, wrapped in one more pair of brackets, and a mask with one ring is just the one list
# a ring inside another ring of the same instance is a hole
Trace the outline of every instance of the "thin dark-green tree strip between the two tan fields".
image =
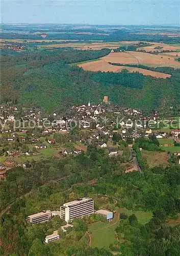
[[(179, 58), (180, 61), (180, 58)], [(160, 72), (160, 73), (166, 73), (166, 74), (170, 74), (173, 75), (174, 73), (180, 73), (180, 69), (174, 69), (172, 67), (149, 67), (149, 66), (145, 66), (145, 65), (141, 65), (141, 64), (122, 64), (122, 63), (114, 63), (114, 62), (108, 62), (111, 65), (114, 66), (124, 66), (124, 67), (134, 67), (134, 68), (140, 68), (140, 69), (147, 69), (147, 70), (151, 70), (151, 71), (156, 71), (156, 72)]]

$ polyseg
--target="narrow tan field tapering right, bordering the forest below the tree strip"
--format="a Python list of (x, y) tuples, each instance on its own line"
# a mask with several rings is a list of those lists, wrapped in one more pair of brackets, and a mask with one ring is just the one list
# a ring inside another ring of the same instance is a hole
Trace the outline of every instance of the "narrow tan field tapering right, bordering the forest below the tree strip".
[(102, 59), (99, 59), (95, 62), (94, 61), (90, 61), (90, 62), (86, 61), (84, 63), (80, 63), (78, 66), (83, 68), (84, 70), (89, 70), (89, 71), (121, 72), (123, 69), (127, 69), (130, 73), (139, 72), (146, 76), (153, 76), (153, 77), (159, 77), (159, 78), (171, 77), (171, 75), (169, 75), (169, 74), (164, 74), (164, 73), (160, 73), (160, 72), (156, 72), (156, 71), (150, 71), (150, 70), (146, 70), (146, 69), (140, 69), (140, 68), (134, 68), (134, 67), (124, 67), (124, 66), (114, 66)]

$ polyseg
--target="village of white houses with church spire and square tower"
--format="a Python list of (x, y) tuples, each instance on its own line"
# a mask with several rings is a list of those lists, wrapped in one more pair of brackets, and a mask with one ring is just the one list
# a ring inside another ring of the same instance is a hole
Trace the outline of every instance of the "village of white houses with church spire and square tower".
[[(94, 143), (105, 148), (109, 156), (118, 155), (117, 146), (112, 144), (114, 134), (129, 146), (136, 138), (142, 135), (148, 138), (152, 133), (157, 139), (171, 138), (176, 143), (180, 142), (179, 127), (171, 127), (169, 132), (161, 131), (162, 120), (157, 111), (151, 116), (144, 116), (139, 110), (119, 108), (109, 103), (108, 96), (104, 96), (97, 105), (91, 104), (89, 99), (87, 104), (72, 106), (64, 116), (56, 112), (47, 115), (35, 108), (19, 110), (8, 102), (0, 105), (0, 121), (1, 179), (6, 179), (8, 169), (14, 165), (27, 167), (27, 161), (17, 163), (17, 157), (36, 157), (47, 148), (56, 148), (61, 156), (72, 156), (81, 154), (88, 144)], [(173, 119), (163, 120), (163, 123), (178, 126)], [(74, 129), (78, 135), (73, 135)], [(63, 147), (57, 140), (61, 135), (65, 140)], [(74, 140), (76, 147), (71, 146)], [(173, 142), (164, 143), (164, 146), (173, 146)]]

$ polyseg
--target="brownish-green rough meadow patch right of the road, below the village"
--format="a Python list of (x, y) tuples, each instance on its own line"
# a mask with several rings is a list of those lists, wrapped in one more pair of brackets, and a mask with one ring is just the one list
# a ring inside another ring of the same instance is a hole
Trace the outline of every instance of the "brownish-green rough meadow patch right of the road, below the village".
[(142, 156), (146, 158), (147, 164), (150, 168), (163, 165), (166, 167), (168, 165), (169, 156), (167, 152), (152, 152), (152, 151), (142, 151)]

